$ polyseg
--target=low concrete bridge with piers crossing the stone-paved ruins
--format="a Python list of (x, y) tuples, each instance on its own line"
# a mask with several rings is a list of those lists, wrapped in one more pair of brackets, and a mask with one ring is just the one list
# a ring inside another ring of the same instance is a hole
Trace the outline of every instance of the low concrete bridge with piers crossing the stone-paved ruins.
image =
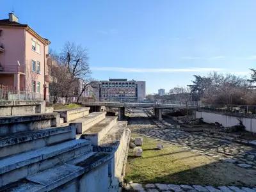
[(162, 104), (162, 103), (147, 103), (147, 102), (86, 102), (83, 103), (86, 107), (91, 107), (94, 111), (100, 111), (102, 106), (108, 108), (118, 108), (118, 120), (122, 120), (125, 115), (125, 108), (153, 108), (154, 116), (162, 120), (162, 109), (188, 109), (196, 110), (196, 103), (181, 103), (180, 104)]

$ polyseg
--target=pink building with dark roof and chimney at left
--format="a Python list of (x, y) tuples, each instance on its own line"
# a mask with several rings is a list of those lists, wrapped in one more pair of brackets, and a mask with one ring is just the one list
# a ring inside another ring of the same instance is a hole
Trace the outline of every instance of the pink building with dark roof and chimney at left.
[(0, 20), (0, 85), (47, 98), (50, 43), (13, 13)]

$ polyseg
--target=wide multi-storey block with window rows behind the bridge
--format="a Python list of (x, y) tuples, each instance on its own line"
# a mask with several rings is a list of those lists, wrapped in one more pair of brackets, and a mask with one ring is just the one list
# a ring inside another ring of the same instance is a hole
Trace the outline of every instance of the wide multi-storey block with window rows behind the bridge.
[(127, 79), (109, 79), (100, 81), (99, 99), (102, 101), (137, 102), (146, 97), (145, 81), (127, 81)]

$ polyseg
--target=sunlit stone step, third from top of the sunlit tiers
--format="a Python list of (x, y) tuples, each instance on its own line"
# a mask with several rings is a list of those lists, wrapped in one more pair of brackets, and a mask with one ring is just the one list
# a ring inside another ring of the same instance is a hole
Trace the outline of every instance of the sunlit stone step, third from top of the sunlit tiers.
[(117, 116), (106, 116), (104, 120), (93, 125), (83, 132), (81, 138), (92, 141), (92, 145), (99, 145), (99, 142), (116, 124)]

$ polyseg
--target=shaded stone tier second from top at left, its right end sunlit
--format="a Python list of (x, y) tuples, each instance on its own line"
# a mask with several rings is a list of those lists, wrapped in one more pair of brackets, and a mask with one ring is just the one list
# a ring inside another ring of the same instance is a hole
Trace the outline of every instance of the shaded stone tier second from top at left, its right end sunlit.
[(60, 126), (60, 115), (58, 113), (2, 116), (0, 117), (0, 136), (58, 126)]

